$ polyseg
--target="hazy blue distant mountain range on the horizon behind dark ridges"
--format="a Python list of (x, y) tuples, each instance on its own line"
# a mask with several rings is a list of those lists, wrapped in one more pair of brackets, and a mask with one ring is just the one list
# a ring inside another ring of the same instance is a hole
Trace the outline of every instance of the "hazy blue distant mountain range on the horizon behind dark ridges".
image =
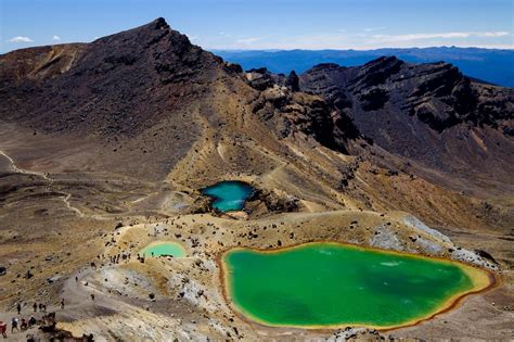
[(411, 63), (444, 61), (471, 77), (504, 87), (514, 87), (514, 50), (478, 48), (424, 48), (356, 50), (216, 50), (224, 60), (244, 69), (267, 67), (272, 73), (304, 73), (320, 63), (356, 66), (384, 55)]

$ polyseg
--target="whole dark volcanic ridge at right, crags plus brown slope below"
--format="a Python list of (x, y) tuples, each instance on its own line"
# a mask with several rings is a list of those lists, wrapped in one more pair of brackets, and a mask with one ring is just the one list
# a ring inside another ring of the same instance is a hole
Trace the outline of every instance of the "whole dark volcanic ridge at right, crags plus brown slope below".
[(300, 76), (385, 150), (439, 169), (496, 173), (514, 162), (514, 90), (471, 80), (450, 64), (394, 56), (320, 64)]

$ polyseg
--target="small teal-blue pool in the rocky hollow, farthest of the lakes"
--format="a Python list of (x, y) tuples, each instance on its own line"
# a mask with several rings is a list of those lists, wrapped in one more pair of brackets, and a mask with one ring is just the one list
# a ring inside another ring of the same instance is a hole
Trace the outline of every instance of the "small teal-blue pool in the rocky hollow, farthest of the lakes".
[(227, 180), (215, 183), (201, 190), (214, 199), (213, 207), (227, 213), (232, 211), (241, 211), (244, 203), (254, 192), (254, 188), (243, 181)]

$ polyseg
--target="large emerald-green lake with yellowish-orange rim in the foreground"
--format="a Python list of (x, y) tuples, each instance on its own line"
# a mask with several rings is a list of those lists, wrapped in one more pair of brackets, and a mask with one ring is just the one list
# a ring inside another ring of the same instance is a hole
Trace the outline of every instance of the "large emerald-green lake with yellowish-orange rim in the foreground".
[(487, 288), (487, 273), (450, 261), (308, 243), (222, 256), (226, 294), (243, 315), (304, 328), (415, 324)]

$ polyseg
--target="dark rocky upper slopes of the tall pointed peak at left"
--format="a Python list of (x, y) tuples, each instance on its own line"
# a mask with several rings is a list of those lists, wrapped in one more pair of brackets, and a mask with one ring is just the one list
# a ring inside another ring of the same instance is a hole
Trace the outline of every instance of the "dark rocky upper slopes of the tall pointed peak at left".
[(77, 54), (60, 77), (2, 78), (0, 117), (50, 132), (133, 136), (203, 91), (192, 85), (208, 86), (220, 64), (163, 18), (80, 46)]

